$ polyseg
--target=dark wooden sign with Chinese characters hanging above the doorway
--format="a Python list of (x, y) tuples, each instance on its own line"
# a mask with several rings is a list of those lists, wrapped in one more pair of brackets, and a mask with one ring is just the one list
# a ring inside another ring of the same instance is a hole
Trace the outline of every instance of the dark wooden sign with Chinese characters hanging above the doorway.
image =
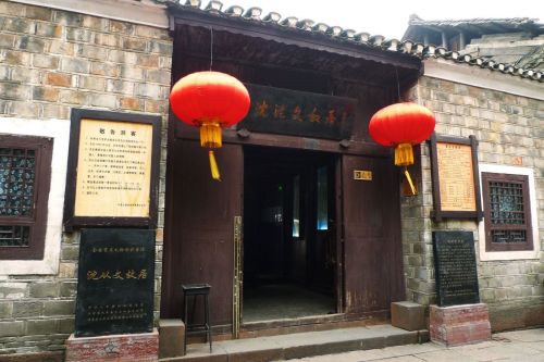
[(251, 108), (238, 129), (344, 139), (351, 136), (357, 100), (246, 84)]

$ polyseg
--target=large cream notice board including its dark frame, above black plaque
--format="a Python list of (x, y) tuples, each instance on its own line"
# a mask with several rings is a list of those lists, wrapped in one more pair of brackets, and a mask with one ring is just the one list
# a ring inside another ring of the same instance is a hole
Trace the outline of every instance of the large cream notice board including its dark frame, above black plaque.
[(157, 224), (160, 116), (72, 110), (64, 225)]

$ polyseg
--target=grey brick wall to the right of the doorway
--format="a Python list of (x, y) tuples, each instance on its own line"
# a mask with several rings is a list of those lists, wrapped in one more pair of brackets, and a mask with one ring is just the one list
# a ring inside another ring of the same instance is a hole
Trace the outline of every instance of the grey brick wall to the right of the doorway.
[[(534, 173), (540, 229), (534, 244), (544, 250), (544, 101), (428, 76), (419, 79), (410, 98), (435, 113), (438, 135), (474, 135), (480, 164)], [(421, 192), (401, 201), (407, 298), (425, 305), (436, 302), (432, 232), (469, 230), (474, 233), (480, 297), (490, 307), (492, 328), (544, 324), (543, 253), (532, 259), (482, 260), (475, 221), (430, 219), (433, 197), (426, 145), (421, 147)]]

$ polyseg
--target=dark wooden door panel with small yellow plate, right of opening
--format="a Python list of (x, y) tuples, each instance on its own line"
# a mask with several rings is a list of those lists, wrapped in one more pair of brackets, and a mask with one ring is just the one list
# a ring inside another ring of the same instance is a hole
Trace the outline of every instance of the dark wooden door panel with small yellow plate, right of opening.
[(344, 311), (388, 311), (404, 299), (398, 171), (390, 159), (344, 155), (342, 182)]

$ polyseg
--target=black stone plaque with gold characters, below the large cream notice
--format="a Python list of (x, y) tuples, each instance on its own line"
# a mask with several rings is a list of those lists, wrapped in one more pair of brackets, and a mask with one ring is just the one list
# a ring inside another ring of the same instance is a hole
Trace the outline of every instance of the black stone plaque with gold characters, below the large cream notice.
[(75, 336), (150, 332), (154, 230), (84, 228)]

